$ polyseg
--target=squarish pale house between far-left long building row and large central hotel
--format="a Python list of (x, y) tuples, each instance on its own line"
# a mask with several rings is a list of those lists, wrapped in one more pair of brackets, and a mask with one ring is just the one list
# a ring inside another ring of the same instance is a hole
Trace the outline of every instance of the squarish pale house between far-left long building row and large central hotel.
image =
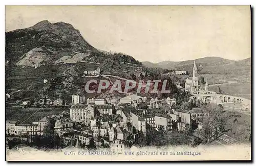
[(73, 122), (70, 118), (62, 117), (60, 118), (60, 120), (57, 120), (55, 122), (54, 130), (58, 135), (62, 135), (63, 133), (66, 133), (71, 129), (73, 129)]

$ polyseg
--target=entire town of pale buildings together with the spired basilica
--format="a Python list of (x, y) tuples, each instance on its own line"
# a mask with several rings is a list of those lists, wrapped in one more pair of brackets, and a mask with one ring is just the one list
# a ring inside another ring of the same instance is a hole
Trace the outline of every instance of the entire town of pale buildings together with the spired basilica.
[[(202, 88), (200, 88), (200, 86)], [(18, 96), (19, 90), (6, 94), (6, 102)], [(184, 92), (189, 94), (188, 103), (202, 102), (204, 106), (210, 103), (230, 103), (218, 97), (216, 92), (208, 90), (206, 83), (199, 85), (197, 66), (194, 63), (193, 78), (187, 79)], [(186, 94), (186, 93), (185, 93)], [(222, 97), (222, 96), (221, 96)], [(226, 97), (225, 97), (226, 98)], [(230, 97), (229, 97), (230, 98)], [(232, 100), (234, 103), (244, 103), (243, 100)], [(129, 93), (123, 98), (87, 98), (83, 93), (72, 94), (72, 103), (66, 105), (61, 99), (41, 100), (44, 107), (51, 106), (60, 109), (58, 113), (49, 113), (38, 121), (6, 121), (7, 145), (9, 149), (22, 145), (35, 148), (60, 149), (110, 149), (117, 153), (127, 150), (138, 151), (143, 146), (163, 145), (159, 142), (164, 136), (177, 133), (181, 143), (189, 146), (200, 144), (202, 131), (205, 127), (200, 121), (211, 116), (211, 112), (203, 109), (190, 109), (177, 106), (175, 98), (146, 98), (139, 94)], [(32, 107), (30, 101), (12, 107)], [(219, 108), (223, 108), (219, 105)], [(66, 111), (65, 111), (66, 110)], [(67, 111), (69, 110), (69, 111)], [(54, 111), (53, 111), (54, 112)], [(206, 122), (208, 123), (208, 122)], [(216, 132), (219, 128), (214, 126)], [(205, 130), (205, 129), (204, 129)], [(230, 142), (232, 138), (223, 138), (216, 132), (211, 132), (207, 139), (222, 138)], [(215, 134), (214, 134), (215, 133)], [(158, 138), (158, 136), (163, 136)], [(215, 137), (215, 138), (213, 138)], [(183, 139), (183, 140), (182, 140)]]

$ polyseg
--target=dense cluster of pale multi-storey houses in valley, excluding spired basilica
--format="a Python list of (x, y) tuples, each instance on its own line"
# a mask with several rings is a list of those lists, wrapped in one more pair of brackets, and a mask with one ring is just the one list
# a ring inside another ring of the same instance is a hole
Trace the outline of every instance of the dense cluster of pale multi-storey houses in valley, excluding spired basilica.
[[(61, 100), (54, 102), (62, 103)], [(175, 109), (175, 105), (175, 99), (147, 99), (138, 94), (106, 100), (86, 99), (83, 94), (75, 93), (72, 95), (70, 112), (47, 115), (32, 124), (6, 121), (6, 133), (44, 134), (44, 128), (52, 124), (59, 136), (75, 131), (75, 139), (79, 144), (89, 145), (93, 138), (96, 147), (104, 145), (113, 151), (122, 152), (132, 145), (138, 145), (139, 133), (146, 136), (152, 130), (187, 130), (193, 116), (191, 112)], [(83, 124), (83, 127), (78, 131), (73, 124)], [(69, 140), (70, 137), (65, 139)]]

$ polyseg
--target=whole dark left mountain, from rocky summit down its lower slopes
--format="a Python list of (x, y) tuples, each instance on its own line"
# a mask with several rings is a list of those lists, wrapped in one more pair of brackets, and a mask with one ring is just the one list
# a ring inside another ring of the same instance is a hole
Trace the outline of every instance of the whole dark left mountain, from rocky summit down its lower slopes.
[[(50, 97), (66, 93), (70, 97), (84, 89), (80, 76), (89, 68), (100, 67), (101, 74), (124, 78), (138, 77), (142, 72), (139, 61), (94, 48), (69, 23), (44, 20), (5, 35), (6, 88), (33, 91), (33, 96), (44, 97), (47, 91)], [(51, 86), (43, 82), (45, 79)]]

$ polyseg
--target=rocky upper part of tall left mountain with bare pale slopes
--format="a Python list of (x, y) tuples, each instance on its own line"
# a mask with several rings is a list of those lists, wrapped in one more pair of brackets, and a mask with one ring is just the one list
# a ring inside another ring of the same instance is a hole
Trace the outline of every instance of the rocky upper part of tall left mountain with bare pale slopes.
[(29, 28), (6, 32), (6, 61), (11, 65), (77, 62), (90, 52), (98, 50), (65, 22), (44, 20)]

